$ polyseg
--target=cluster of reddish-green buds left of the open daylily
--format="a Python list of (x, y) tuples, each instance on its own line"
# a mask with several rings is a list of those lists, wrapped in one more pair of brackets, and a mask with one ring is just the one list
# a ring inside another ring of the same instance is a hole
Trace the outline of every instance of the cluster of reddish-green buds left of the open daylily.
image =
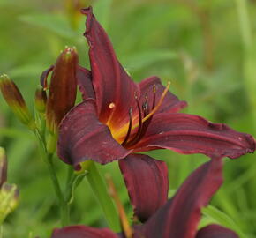
[[(58, 56), (56, 63), (42, 72), (41, 86), (36, 89), (34, 96), (34, 108), (39, 113), (36, 115), (40, 116), (35, 115), (35, 119), (29, 112), (18, 86), (6, 74), (0, 76), (0, 91), (4, 100), (21, 123), (30, 130), (39, 130), (43, 137), (46, 136), (50, 153), (56, 150), (58, 125), (76, 101), (78, 65), (76, 48), (66, 47)], [(45, 130), (41, 131), (41, 125), (45, 123), (48, 130), (46, 135)]]

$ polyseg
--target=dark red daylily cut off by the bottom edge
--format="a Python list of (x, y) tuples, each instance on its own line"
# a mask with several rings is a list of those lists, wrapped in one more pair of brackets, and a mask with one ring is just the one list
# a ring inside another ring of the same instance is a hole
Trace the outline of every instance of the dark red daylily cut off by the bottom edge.
[[(139, 177), (139, 176), (138, 176)], [(215, 158), (196, 169), (177, 193), (147, 220), (133, 229), (133, 238), (237, 238), (237, 234), (219, 225), (197, 231), (200, 210), (222, 185), (222, 159)], [(71, 226), (55, 229), (51, 238), (117, 238), (109, 229)]]

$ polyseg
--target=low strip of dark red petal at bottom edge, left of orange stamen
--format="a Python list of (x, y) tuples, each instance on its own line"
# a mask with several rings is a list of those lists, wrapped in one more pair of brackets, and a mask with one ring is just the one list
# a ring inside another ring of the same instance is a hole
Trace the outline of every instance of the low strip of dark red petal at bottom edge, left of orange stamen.
[(51, 238), (117, 238), (118, 235), (108, 228), (93, 228), (86, 226), (70, 226), (56, 228)]

